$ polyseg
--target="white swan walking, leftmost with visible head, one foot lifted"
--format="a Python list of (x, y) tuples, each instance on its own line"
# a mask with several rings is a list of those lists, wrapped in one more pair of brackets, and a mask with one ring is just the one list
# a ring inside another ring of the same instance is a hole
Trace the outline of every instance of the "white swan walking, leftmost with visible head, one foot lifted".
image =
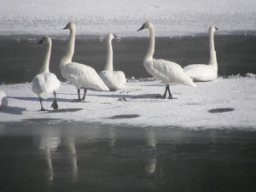
[(51, 52), (51, 39), (48, 36), (42, 38), (38, 44), (47, 44), (46, 55), (44, 56), (43, 67), (41, 68), (39, 74), (32, 80), (32, 91), (38, 95), (41, 104), (41, 111), (45, 111), (42, 99), (48, 99), (53, 93), (55, 96), (54, 102), (51, 107), (54, 109), (58, 108), (56, 101), (56, 90), (59, 89), (61, 82), (56, 78), (54, 73), (49, 73), (49, 58)]

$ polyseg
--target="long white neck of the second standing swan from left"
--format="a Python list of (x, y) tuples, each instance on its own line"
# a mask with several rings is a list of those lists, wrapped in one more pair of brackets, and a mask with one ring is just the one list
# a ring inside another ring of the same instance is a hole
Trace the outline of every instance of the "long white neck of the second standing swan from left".
[(76, 36), (76, 29), (71, 28), (69, 34), (69, 40), (67, 44), (67, 51), (66, 54), (61, 58), (61, 64), (67, 64), (72, 62), (72, 57), (74, 53), (75, 47), (75, 36)]

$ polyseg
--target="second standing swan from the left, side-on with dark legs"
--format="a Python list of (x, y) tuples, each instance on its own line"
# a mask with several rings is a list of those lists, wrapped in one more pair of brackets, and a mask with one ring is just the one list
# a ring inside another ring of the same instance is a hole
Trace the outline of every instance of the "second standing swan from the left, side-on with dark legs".
[[(63, 78), (70, 81), (78, 89), (79, 99), (73, 100), (73, 102), (82, 102), (85, 100), (87, 88), (94, 90), (109, 90), (94, 68), (72, 61), (75, 46), (76, 26), (73, 22), (69, 22), (64, 29), (69, 29), (70, 35), (67, 52), (61, 58), (60, 68)], [(84, 96), (82, 99), (80, 97), (80, 89), (84, 89)]]

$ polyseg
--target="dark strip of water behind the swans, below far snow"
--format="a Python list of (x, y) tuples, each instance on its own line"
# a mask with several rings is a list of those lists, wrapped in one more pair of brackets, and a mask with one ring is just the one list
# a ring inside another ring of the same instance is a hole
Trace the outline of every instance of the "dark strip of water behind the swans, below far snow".
[[(42, 37), (38, 37), (40, 40)], [(58, 38), (59, 39), (59, 38)], [(50, 71), (61, 77), (59, 61), (66, 52), (67, 42), (53, 39)], [(218, 36), (215, 38), (218, 54), (218, 74), (256, 73), (256, 37)], [(143, 56), (148, 49), (148, 38), (124, 38), (113, 41), (113, 67), (125, 72), (127, 78), (147, 78)], [(0, 38), (0, 83), (31, 82), (42, 66), (45, 48), (42, 44), (28, 43), (27, 38)], [(156, 38), (155, 58), (175, 61), (181, 66), (207, 63), (208, 38)], [(100, 72), (106, 61), (107, 45), (97, 38), (78, 39), (73, 61), (94, 67)]]

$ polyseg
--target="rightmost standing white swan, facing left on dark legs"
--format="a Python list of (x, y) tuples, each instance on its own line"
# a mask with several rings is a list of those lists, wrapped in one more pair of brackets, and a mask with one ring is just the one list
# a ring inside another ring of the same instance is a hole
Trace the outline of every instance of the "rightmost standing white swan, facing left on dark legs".
[(175, 62), (166, 61), (162, 59), (154, 59), (154, 25), (152, 22), (147, 21), (143, 26), (137, 30), (141, 31), (148, 29), (150, 32), (149, 48), (147, 54), (144, 57), (143, 65), (156, 79), (160, 79), (166, 84), (166, 91), (162, 98), (166, 98), (166, 93), (169, 93), (169, 99), (172, 99), (172, 93), (169, 84), (187, 84), (196, 87), (195, 83), (189, 76), (183, 72), (183, 68)]

